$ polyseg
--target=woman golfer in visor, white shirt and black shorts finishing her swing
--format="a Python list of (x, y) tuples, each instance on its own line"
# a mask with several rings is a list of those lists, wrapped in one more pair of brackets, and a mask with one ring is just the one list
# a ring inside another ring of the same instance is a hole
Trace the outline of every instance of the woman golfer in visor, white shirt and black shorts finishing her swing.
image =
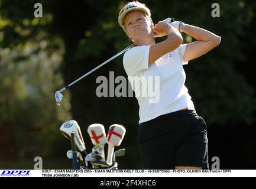
[[(184, 86), (183, 65), (221, 42), (221, 37), (183, 22), (154, 25), (150, 9), (138, 1), (119, 12), (119, 25), (137, 43), (124, 54), (124, 69), (140, 106), (138, 142), (147, 169), (208, 169), (205, 120), (197, 115)], [(182, 44), (180, 32), (195, 42)], [(167, 35), (155, 43), (155, 37)], [(152, 79), (153, 78), (153, 79)], [(154, 99), (152, 99), (152, 91)]]

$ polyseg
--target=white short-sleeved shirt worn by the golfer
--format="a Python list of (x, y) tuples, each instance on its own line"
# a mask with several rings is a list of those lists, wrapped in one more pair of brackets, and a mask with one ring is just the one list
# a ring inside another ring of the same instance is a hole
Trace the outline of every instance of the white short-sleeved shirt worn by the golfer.
[(150, 46), (133, 47), (124, 54), (124, 69), (140, 106), (139, 123), (184, 108), (195, 110), (184, 85), (186, 45), (180, 45), (151, 66), (148, 66)]

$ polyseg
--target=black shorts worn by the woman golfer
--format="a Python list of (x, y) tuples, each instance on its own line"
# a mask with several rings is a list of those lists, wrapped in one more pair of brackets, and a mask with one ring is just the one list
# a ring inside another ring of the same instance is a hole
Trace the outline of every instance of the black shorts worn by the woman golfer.
[(180, 110), (141, 123), (138, 144), (145, 169), (209, 168), (207, 126), (195, 110)]

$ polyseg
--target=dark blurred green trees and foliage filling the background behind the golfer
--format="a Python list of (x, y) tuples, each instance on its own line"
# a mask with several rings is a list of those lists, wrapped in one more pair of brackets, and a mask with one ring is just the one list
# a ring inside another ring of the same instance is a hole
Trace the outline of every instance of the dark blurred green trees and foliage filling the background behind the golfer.
[[(34, 17), (35, 3), (43, 17)], [(221, 44), (184, 69), (186, 86), (197, 113), (208, 124), (209, 165), (219, 157), (221, 169), (256, 169), (256, 1), (148, 0), (153, 22), (167, 17), (196, 25), (222, 37)], [(63, 122), (75, 119), (88, 151), (87, 128), (113, 123), (127, 129), (119, 148), (119, 168), (141, 169), (137, 145), (138, 103), (135, 97), (97, 97), (96, 78), (115, 71), (127, 77), (122, 56), (63, 92), (54, 93), (114, 56), (132, 42), (118, 25), (127, 1), (0, 0), (0, 169), (70, 169), (70, 142)], [(220, 17), (212, 17), (218, 3)], [(184, 43), (193, 38), (183, 34)], [(163, 38), (158, 39), (158, 41)], [(118, 84), (116, 84), (118, 85)]]

